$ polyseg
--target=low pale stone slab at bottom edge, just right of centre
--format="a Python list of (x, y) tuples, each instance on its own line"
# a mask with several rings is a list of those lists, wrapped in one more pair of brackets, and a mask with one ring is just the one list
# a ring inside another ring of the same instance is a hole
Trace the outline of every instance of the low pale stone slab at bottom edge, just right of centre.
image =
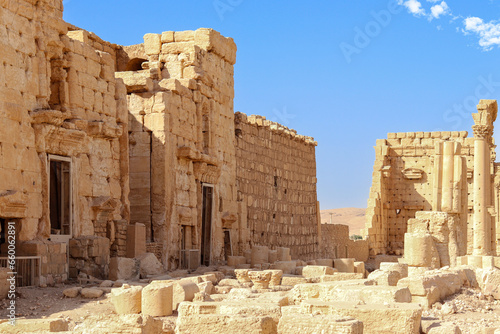
[(363, 323), (334, 315), (291, 314), (281, 317), (278, 334), (363, 334)]

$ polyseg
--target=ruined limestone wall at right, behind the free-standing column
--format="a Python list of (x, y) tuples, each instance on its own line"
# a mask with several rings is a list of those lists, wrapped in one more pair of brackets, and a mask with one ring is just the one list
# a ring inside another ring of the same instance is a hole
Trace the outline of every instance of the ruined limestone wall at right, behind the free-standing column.
[[(402, 255), (408, 219), (415, 218), (417, 211), (441, 211), (445, 207), (443, 144), (447, 141), (459, 143), (454, 146), (453, 154), (458, 159), (454, 162), (455, 171), (462, 175), (455, 175), (451, 190), (454, 207), (448, 212), (456, 214), (464, 225), (467, 237), (461, 236), (462, 240), (472, 240), (474, 138), (468, 138), (466, 131), (389, 133), (387, 139), (377, 140), (375, 146), (364, 231), (369, 237), (371, 256)], [(492, 149), (491, 161), (494, 155)], [(490, 164), (493, 171), (493, 163)], [(471, 247), (467, 243), (468, 253)]]

